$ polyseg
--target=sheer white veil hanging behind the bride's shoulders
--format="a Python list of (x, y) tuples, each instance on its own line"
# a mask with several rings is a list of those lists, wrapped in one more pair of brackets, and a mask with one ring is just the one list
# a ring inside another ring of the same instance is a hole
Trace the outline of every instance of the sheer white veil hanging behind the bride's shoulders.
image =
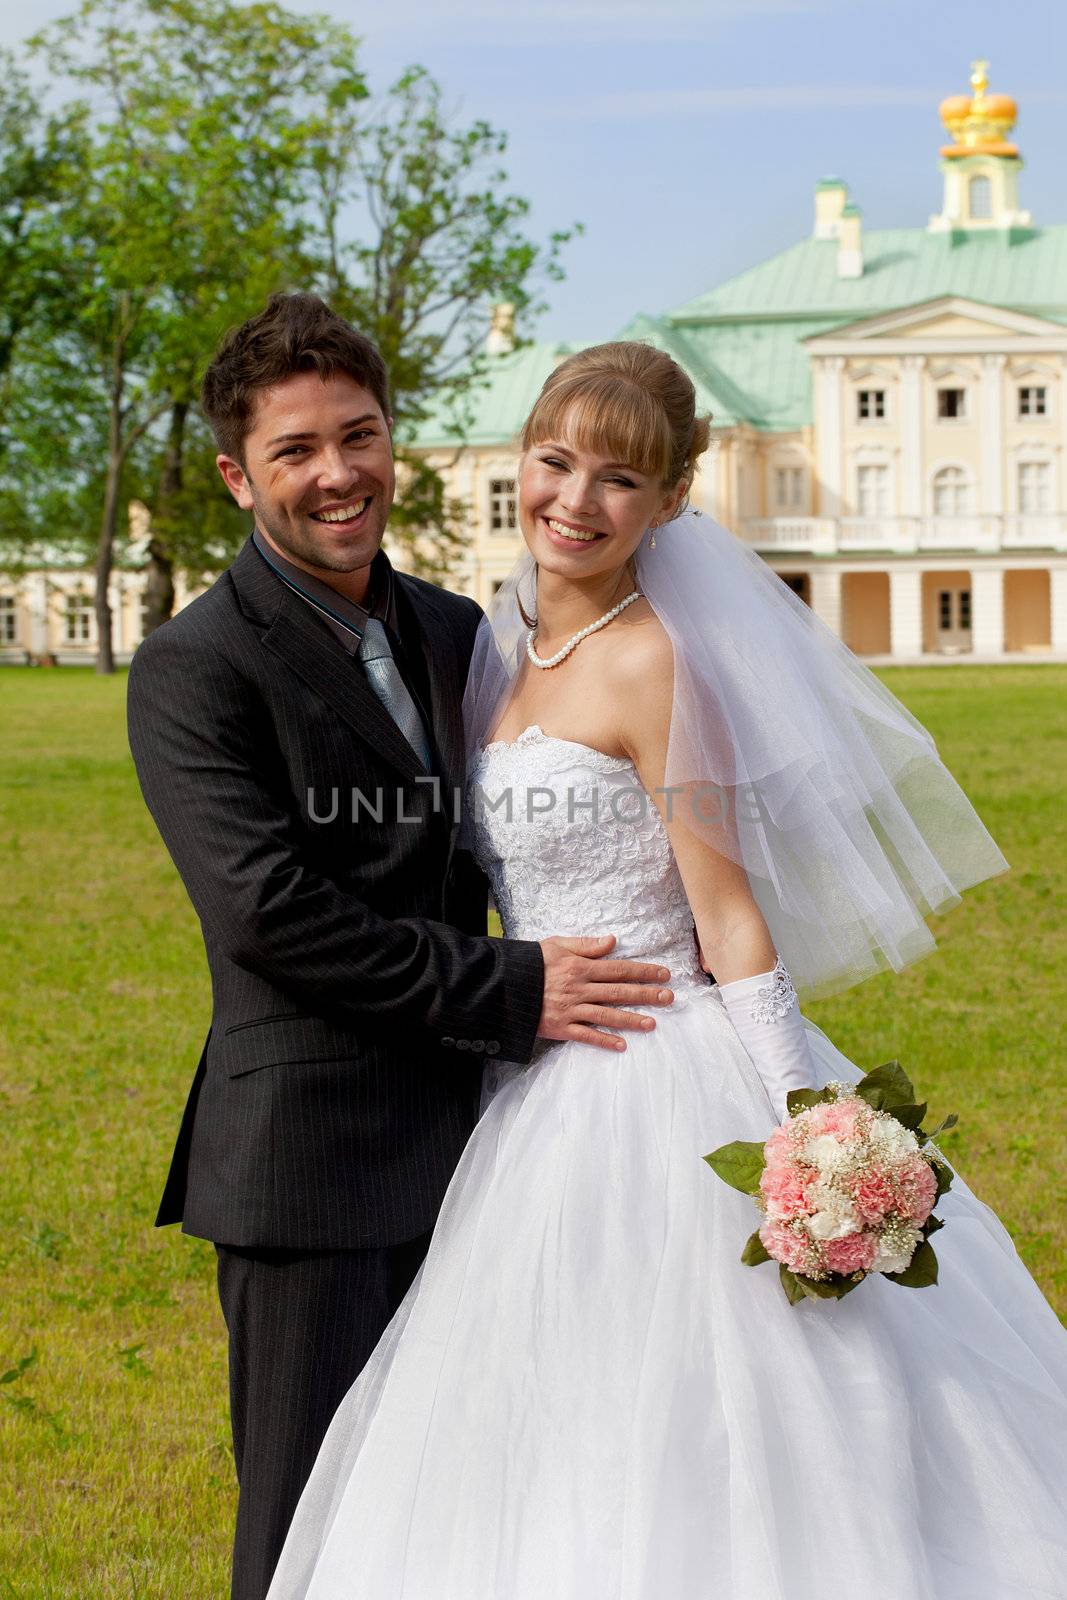
[[(645, 534), (637, 582), (675, 656), (656, 805), (739, 861), (808, 995), (899, 968), (925, 917), (1008, 862), (931, 736), (769, 568), (701, 512)], [(534, 611), (525, 555), (482, 624), (464, 720), (498, 720)]]

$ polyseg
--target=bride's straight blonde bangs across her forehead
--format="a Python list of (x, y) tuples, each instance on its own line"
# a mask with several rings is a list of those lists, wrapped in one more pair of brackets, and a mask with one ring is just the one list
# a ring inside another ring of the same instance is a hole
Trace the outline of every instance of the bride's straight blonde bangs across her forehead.
[(550, 389), (534, 406), (526, 435), (526, 445), (553, 438), (651, 478), (665, 478), (670, 469), (662, 408), (617, 373), (582, 374)]

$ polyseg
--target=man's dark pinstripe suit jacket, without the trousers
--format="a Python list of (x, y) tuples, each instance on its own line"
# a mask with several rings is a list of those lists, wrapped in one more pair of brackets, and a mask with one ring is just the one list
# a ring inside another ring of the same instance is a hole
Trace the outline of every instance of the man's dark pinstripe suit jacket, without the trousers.
[[(456, 850), (480, 611), (395, 581), (405, 646), (427, 664), (440, 805), (357, 662), (251, 541), (130, 669), (130, 746), (213, 987), (157, 1221), (218, 1243), (344, 1250), (429, 1230), (485, 1054), (533, 1053), (541, 950), (485, 938), (485, 878)], [(336, 816), (314, 821), (334, 789)], [(354, 790), (381, 822), (352, 819)]]

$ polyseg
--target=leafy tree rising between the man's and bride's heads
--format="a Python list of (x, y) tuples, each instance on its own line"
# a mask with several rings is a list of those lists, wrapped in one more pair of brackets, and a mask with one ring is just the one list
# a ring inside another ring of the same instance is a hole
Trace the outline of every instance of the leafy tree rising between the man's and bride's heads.
[[(493, 306), (510, 304), (520, 326), (544, 310), (539, 288), (561, 278), (574, 232), (545, 246), (526, 237), (530, 203), (507, 192), (506, 150), (507, 136), (486, 122), (454, 126), (440, 85), (410, 67), (360, 125), (338, 126), (315, 171), (323, 290), (390, 373), (403, 485), (390, 531), (432, 578), (454, 566), (466, 507), (403, 440), (430, 400), (462, 435)], [(360, 226), (346, 237), (352, 214)]]

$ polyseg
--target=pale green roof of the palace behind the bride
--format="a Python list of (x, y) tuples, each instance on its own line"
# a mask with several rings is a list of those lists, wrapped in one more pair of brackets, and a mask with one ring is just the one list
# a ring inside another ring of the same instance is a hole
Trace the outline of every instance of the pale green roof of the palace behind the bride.
[[(825, 179), (829, 182), (829, 179)], [(646, 339), (689, 373), (715, 424), (787, 432), (813, 421), (803, 341), (851, 322), (958, 296), (1067, 323), (1067, 227), (864, 234), (864, 272), (837, 275), (837, 240), (805, 238), (659, 317), (638, 315), (622, 339)], [(464, 429), (470, 445), (515, 438), (541, 384), (581, 344), (531, 344), (488, 357)], [(418, 429), (422, 446), (459, 443), (443, 408)]]

